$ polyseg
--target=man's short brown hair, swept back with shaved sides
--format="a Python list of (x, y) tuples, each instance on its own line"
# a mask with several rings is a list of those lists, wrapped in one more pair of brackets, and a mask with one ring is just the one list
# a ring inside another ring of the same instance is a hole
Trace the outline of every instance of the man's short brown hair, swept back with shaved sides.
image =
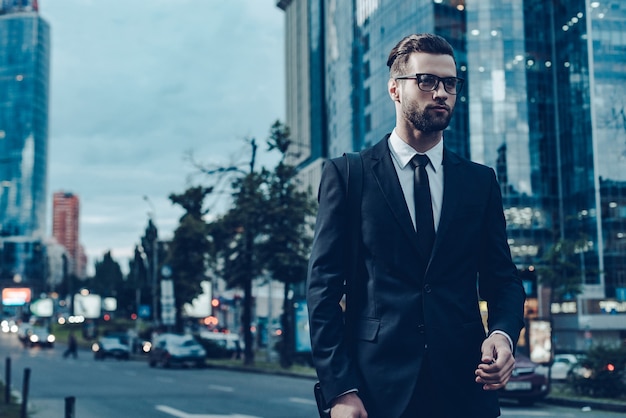
[(405, 74), (406, 64), (413, 52), (450, 55), (454, 59), (454, 49), (444, 38), (432, 33), (417, 33), (405, 37), (393, 47), (387, 58), (390, 73), (396, 76)]

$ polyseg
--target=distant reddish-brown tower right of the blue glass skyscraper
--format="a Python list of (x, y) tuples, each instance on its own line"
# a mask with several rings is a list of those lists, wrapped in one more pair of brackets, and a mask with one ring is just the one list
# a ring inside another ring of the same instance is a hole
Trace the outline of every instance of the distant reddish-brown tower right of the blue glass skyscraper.
[(68, 272), (84, 277), (84, 252), (80, 245), (80, 200), (69, 192), (55, 192), (52, 197), (52, 236), (65, 247)]

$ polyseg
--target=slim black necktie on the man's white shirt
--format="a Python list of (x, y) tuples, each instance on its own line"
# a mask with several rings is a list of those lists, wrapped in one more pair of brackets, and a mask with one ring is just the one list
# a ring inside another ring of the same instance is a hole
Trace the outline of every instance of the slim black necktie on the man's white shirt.
[(430, 163), (428, 156), (416, 154), (411, 160), (415, 169), (415, 224), (417, 240), (426, 258), (430, 258), (435, 241), (435, 222), (433, 220), (433, 207), (430, 200), (430, 186), (426, 166)]

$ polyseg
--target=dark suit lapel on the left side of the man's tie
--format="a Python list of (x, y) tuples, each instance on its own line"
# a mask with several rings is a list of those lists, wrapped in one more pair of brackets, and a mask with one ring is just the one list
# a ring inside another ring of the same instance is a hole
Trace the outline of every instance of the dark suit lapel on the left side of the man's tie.
[(378, 183), (380, 192), (385, 197), (385, 201), (393, 217), (400, 225), (400, 229), (404, 232), (415, 249), (418, 250), (417, 234), (415, 233), (413, 221), (411, 220), (411, 215), (406, 206), (396, 168), (391, 160), (389, 145), (387, 144), (388, 138), (389, 135), (372, 148), (372, 173)]

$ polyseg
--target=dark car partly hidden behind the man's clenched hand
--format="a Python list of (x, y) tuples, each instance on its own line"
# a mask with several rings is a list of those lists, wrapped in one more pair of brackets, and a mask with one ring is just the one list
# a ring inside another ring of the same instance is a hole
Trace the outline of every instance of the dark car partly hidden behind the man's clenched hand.
[(545, 398), (550, 392), (547, 366), (533, 363), (524, 355), (515, 356), (513, 374), (499, 396), (503, 399), (514, 399), (524, 405), (532, 405)]

